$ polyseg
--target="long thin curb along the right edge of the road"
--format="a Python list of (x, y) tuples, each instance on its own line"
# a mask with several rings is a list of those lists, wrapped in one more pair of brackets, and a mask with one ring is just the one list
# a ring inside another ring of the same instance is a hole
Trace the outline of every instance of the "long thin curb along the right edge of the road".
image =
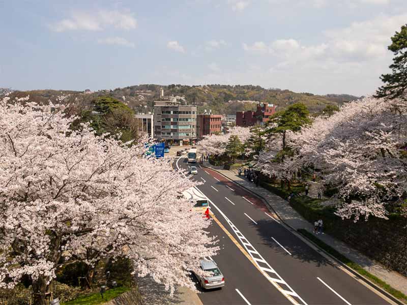
[[(353, 275), (355, 275), (356, 277), (358, 277), (359, 279), (363, 280), (366, 284), (368, 284), (370, 287), (374, 288), (375, 290), (379, 291), (381, 294), (385, 295), (387, 298), (389, 298), (390, 300), (392, 300), (393, 302), (399, 304), (399, 305), (405, 305), (404, 302), (400, 301), (398, 298), (394, 297), (392, 294), (388, 293), (386, 290), (382, 289), (381, 287), (377, 286), (376, 284), (374, 284), (373, 282), (371, 282), (369, 279), (365, 278), (364, 276), (362, 276), (359, 272), (357, 272), (356, 270), (352, 269), (351, 267), (345, 265), (344, 263), (342, 263), (340, 260), (338, 260), (336, 257), (334, 257), (333, 255), (329, 254), (328, 252), (326, 252), (324, 249), (319, 248), (319, 246), (316, 245), (316, 243), (314, 243), (312, 240), (308, 239), (306, 236), (302, 235), (301, 233), (299, 233), (294, 227), (290, 226), (289, 224), (287, 224), (282, 218), (281, 216), (278, 214), (278, 212), (271, 206), (271, 204), (261, 195), (258, 195), (256, 193), (254, 193), (253, 191), (249, 190), (248, 188), (240, 185), (238, 182), (230, 179), (229, 177), (225, 176), (224, 174), (222, 174), (221, 172), (217, 171), (216, 169), (210, 168), (206, 165), (201, 164), (202, 167), (208, 168), (210, 170), (213, 170), (215, 172), (217, 172), (218, 174), (222, 175), (223, 177), (225, 177), (226, 179), (228, 179), (229, 181), (233, 182), (234, 184), (236, 184), (237, 186), (245, 189), (246, 191), (250, 192), (251, 194), (257, 196), (258, 198), (260, 198), (265, 204), (266, 206), (271, 209), (275, 215), (277, 215), (278, 219), (285, 225), (287, 226), (290, 231), (293, 231), (294, 234), (298, 237), (300, 237), (301, 239), (305, 239), (308, 243), (311, 243), (313, 245), (313, 247), (317, 248), (319, 251), (323, 252), (325, 255), (329, 256), (331, 259), (333, 259), (335, 262), (339, 263), (342, 267), (344, 267), (347, 271), (350, 271)], [(271, 192), (270, 192), (271, 193)], [(276, 195), (277, 196), (277, 195)], [(323, 241), (323, 240), (322, 240)], [(329, 245), (328, 245), (329, 246)]]

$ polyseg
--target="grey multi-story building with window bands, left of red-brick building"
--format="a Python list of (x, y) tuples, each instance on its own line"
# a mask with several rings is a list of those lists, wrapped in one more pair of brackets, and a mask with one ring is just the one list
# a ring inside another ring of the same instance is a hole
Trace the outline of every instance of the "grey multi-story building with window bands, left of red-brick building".
[(176, 101), (156, 101), (154, 104), (154, 135), (170, 144), (192, 144), (196, 140), (196, 106), (180, 105)]

